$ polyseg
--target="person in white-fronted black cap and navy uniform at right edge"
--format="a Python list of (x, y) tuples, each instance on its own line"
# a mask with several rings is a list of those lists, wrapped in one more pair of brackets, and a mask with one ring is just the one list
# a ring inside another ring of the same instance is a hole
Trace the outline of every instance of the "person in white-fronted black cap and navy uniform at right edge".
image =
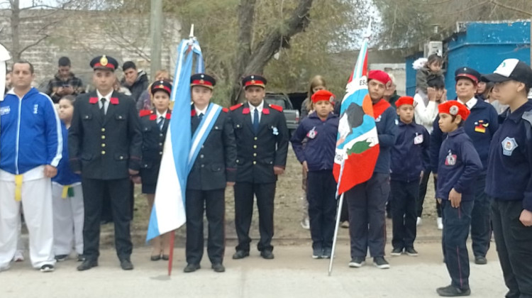
[(508, 298), (532, 297), (532, 70), (517, 59), (504, 60), (493, 74), (501, 104), (501, 126), (489, 147), (486, 192)]

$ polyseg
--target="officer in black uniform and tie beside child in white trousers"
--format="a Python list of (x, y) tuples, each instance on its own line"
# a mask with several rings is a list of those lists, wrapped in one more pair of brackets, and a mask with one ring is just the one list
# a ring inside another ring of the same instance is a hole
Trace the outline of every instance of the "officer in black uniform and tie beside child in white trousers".
[(118, 62), (109, 56), (91, 63), (96, 90), (79, 95), (69, 130), (70, 166), (82, 176), (84, 257), (77, 270), (98, 265), (102, 198), (109, 189), (115, 245), (123, 270), (132, 270), (131, 176), (138, 175), (142, 133), (135, 102), (113, 91)]

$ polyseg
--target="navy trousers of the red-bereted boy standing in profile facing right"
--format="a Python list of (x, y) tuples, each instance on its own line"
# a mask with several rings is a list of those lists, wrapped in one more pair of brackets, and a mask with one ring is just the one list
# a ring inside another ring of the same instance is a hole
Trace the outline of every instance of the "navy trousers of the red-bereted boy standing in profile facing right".
[(450, 201), (441, 202), (443, 257), (451, 285), (459, 289), (469, 289), (469, 255), (465, 243), (469, 236), (473, 204), (473, 201), (462, 201), (460, 207), (453, 208)]

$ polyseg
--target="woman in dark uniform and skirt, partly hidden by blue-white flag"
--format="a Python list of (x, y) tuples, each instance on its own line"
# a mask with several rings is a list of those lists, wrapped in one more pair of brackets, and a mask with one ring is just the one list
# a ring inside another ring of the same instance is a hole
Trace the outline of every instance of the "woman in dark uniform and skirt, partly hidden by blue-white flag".
[[(142, 162), (140, 162), (140, 180), (142, 192), (148, 199), (148, 212), (153, 209), (155, 187), (162, 159), (162, 148), (165, 145), (166, 133), (170, 124), (172, 111), (170, 107), (172, 83), (160, 80), (150, 85), (153, 104), (151, 110), (140, 110), (140, 129), (143, 132)], [(138, 183), (139, 181), (135, 181)], [(170, 233), (152, 239), (150, 260), (168, 260), (170, 258)]]

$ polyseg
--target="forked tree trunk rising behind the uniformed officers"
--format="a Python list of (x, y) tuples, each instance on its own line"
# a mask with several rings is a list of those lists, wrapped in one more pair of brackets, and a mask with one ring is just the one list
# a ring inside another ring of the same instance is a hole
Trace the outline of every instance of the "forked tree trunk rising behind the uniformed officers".
[(231, 104), (238, 102), (241, 89), (240, 80), (243, 75), (262, 74), (264, 67), (279, 48), (289, 48), (290, 38), (309, 26), (309, 11), (312, 7), (312, 1), (299, 0), (299, 4), (291, 16), (279, 24), (277, 28), (272, 29), (270, 33), (267, 33), (265, 38), (253, 48), (253, 52), (251, 51), (251, 38), (256, 0), (240, 1), (240, 6), (238, 6), (238, 50)]

